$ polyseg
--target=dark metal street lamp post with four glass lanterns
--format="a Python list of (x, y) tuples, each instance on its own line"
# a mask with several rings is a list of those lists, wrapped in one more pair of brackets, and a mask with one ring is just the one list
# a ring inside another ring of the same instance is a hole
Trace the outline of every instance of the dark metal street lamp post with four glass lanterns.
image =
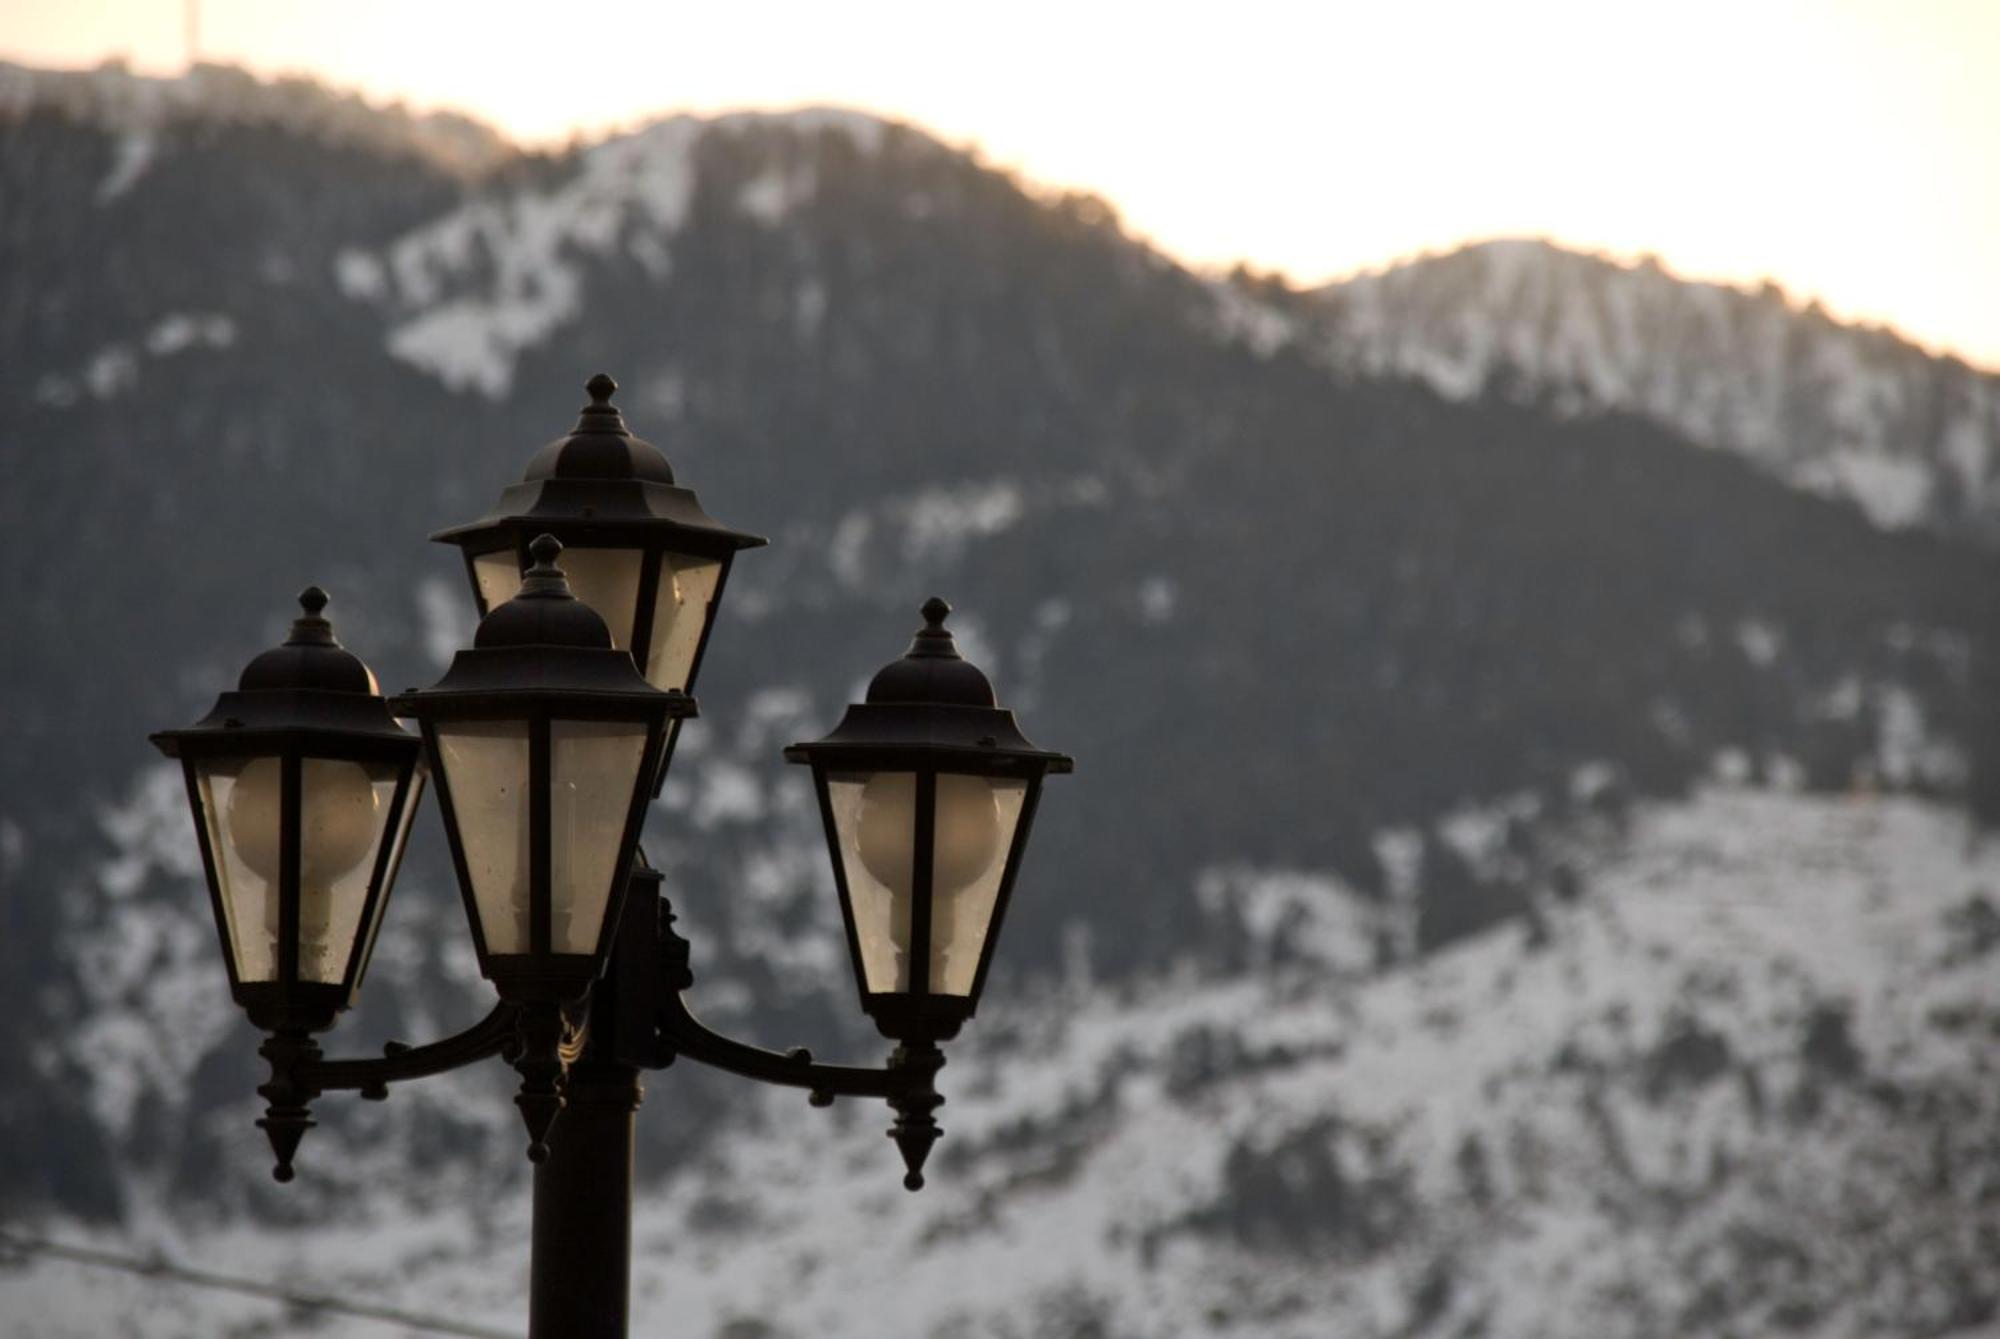
[[(684, 1057), (814, 1105), (880, 1097), (904, 1185), (922, 1187), (940, 1043), (984, 989), (1042, 779), (1070, 769), (1020, 733), (960, 658), (950, 606), (930, 600), (866, 701), (786, 749), (812, 769), (862, 1009), (894, 1053), (826, 1065), (696, 1019), (690, 949), (638, 841), (696, 713), (730, 562), (762, 540), (674, 484), (614, 390), (592, 378), (576, 430), (500, 510), (436, 536), (464, 552), (482, 614), (438, 683), (386, 699), (312, 588), (284, 646), (198, 723), (154, 735), (186, 773), (232, 995), (266, 1033), (258, 1125), (274, 1175), (294, 1177), (320, 1095), (380, 1101), (392, 1083), (506, 1057), (536, 1165), (532, 1339), (626, 1333), (642, 1069)], [(360, 989), (426, 773), (500, 1001), (442, 1041), (328, 1059), (316, 1035)]]

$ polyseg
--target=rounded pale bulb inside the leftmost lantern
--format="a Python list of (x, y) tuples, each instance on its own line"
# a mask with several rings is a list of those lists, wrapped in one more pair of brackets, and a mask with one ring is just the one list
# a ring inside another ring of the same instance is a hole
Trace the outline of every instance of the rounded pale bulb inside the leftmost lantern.
[[(230, 787), (230, 845), (266, 885), (264, 931), (278, 941), (278, 827), (284, 813), (284, 763), (254, 757)], [(368, 769), (312, 757), (302, 763), (298, 807), (298, 957), (300, 975), (324, 977), (332, 949), (334, 883), (374, 851), (378, 797)]]

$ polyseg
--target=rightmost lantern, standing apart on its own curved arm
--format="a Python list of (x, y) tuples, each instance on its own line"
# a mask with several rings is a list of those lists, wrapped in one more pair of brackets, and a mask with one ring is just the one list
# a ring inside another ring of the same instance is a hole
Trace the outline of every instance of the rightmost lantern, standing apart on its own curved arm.
[(1072, 761), (1030, 743), (924, 604), (910, 652), (868, 699), (786, 757), (812, 767), (862, 1007), (906, 1043), (972, 1017), (1020, 871), (1042, 777)]

